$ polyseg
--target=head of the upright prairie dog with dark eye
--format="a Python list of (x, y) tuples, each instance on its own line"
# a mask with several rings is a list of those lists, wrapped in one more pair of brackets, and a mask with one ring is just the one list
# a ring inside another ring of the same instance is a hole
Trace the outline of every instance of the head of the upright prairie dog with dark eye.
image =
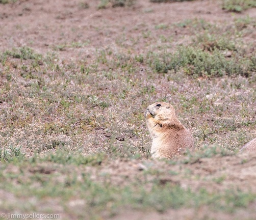
[(158, 120), (166, 120), (175, 116), (174, 107), (166, 102), (156, 102), (147, 107), (150, 115)]

